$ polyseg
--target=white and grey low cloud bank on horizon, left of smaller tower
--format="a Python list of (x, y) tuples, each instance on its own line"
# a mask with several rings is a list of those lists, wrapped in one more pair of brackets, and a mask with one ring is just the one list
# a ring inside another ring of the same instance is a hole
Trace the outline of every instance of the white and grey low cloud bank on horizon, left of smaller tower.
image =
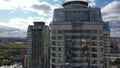
[(10, 19), (8, 23), (0, 22), (0, 37), (26, 37), (28, 25), (33, 25), (34, 21), (45, 21), (46, 25), (49, 25), (51, 18), (14, 18)]

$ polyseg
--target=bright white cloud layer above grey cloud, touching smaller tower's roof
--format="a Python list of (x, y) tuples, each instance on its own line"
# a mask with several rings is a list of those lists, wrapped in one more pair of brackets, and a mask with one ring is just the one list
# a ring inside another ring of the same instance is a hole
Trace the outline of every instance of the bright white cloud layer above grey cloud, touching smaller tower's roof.
[(8, 26), (8, 27), (14, 27), (18, 29), (27, 29), (28, 25), (33, 25), (34, 21), (44, 21), (46, 22), (46, 25), (49, 25), (49, 22), (51, 22), (52, 18), (44, 18), (44, 17), (28, 17), (27, 19), (24, 18), (13, 18), (10, 19), (8, 23), (0, 22), (0, 25)]

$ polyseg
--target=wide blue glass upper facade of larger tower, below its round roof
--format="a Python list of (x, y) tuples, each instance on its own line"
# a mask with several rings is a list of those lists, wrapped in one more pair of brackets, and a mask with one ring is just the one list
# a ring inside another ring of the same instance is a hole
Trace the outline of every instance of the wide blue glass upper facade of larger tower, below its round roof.
[(87, 10), (70, 10), (55, 9), (53, 22), (100, 22), (102, 21), (100, 9), (87, 9)]

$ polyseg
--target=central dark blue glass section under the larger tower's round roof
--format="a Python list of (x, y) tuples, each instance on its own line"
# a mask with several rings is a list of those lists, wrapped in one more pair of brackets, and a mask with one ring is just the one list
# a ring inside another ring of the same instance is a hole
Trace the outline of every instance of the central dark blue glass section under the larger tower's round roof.
[(89, 21), (89, 11), (65, 11), (65, 21)]

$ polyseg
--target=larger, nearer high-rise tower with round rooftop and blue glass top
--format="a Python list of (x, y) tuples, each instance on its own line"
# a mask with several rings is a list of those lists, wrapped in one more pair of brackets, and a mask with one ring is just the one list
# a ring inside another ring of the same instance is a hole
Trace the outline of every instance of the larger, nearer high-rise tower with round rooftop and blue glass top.
[(54, 10), (50, 68), (109, 68), (108, 23), (100, 8), (71, 0)]

